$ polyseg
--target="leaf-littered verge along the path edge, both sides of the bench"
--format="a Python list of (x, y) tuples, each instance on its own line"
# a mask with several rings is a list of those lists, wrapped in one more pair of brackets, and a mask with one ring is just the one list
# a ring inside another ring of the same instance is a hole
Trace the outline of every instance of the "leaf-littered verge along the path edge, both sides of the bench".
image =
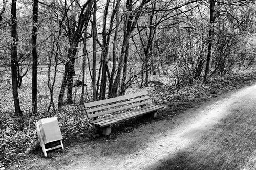
[[(165, 105), (154, 120), (143, 118), (131, 119), (113, 126), (108, 138), (115, 138), (122, 133), (131, 132), (151, 121), (160, 121), (167, 117), (174, 117), (193, 105), (215, 98), (230, 90), (241, 88), (255, 81), (256, 74), (247, 73), (225, 79), (213, 79), (209, 84), (187, 84), (176, 90), (174, 86), (151, 86), (143, 90), (149, 91), (152, 102)], [(89, 121), (79, 105), (65, 106), (62, 112), (39, 112), (30, 116), (25, 112), (22, 117), (14, 117), (9, 113), (0, 114), (0, 167), (8, 166), (23, 159), (28, 154), (36, 154), (44, 157), (41, 152), (39, 140), (36, 134), (35, 122), (41, 118), (58, 118), (63, 142), (67, 146), (74, 142), (90, 141), (101, 138), (95, 134), (94, 126)], [(62, 152), (62, 151), (56, 151)], [(51, 152), (50, 157), (56, 152)], [(52, 155), (51, 155), (52, 154)]]

